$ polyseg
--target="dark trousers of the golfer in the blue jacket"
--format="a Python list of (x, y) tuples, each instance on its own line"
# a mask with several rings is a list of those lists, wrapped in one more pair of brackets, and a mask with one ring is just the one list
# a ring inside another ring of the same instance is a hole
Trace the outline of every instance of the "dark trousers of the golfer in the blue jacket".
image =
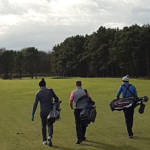
[(133, 136), (132, 126), (133, 126), (133, 115), (134, 115), (134, 107), (127, 108), (124, 111), (126, 127), (129, 136)]

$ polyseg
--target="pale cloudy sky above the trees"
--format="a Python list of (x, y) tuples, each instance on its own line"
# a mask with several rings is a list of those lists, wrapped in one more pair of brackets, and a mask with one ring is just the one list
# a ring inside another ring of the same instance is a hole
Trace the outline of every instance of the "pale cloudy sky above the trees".
[(51, 51), (100, 26), (150, 23), (150, 0), (0, 0), (0, 48)]

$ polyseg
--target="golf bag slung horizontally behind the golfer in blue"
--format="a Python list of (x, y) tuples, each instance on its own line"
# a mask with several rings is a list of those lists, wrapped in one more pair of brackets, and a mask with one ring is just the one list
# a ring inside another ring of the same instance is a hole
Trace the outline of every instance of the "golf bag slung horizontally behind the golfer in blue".
[(114, 110), (124, 110), (129, 107), (136, 107), (140, 105), (139, 113), (144, 113), (145, 104), (143, 102), (147, 102), (148, 97), (128, 97), (128, 98), (120, 98), (120, 99), (114, 99), (111, 101), (110, 108), (112, 111)]

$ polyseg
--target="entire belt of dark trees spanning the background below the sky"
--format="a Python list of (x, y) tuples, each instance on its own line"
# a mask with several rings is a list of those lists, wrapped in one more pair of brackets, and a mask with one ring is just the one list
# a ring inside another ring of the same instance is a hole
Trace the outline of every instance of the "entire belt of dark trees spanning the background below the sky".
[(150, 25), (123, 29), (101, 26), (91, 35), (68, 37), (48, 52), (35, 47), (0, 49), (3, 78), (43, 75), (116, 77), (150, 76)]

